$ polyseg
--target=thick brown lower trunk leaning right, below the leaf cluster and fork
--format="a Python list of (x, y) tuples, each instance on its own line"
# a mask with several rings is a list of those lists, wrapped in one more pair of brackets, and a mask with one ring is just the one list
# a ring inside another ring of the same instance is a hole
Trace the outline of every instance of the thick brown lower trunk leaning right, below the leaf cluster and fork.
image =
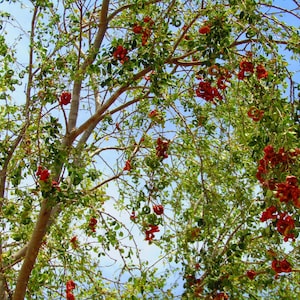
[(47, 232), (47, 224), (51, 216), (51, 210), (52, 208), (49, 207), (48, 201), (43, 200), (35, 228), (28, 244), (26, 256), (19, 272), (13, 300), (23, 300), (25, 298), (30, 274), (35, 265), (43, 238)]

